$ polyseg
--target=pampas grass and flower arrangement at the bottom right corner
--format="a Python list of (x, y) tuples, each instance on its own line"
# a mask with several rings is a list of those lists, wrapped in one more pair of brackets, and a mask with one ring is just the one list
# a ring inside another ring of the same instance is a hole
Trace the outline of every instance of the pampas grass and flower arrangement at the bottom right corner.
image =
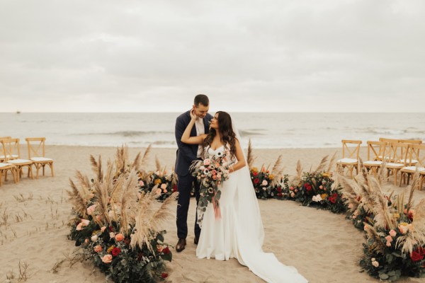
[(349, 217), (365, 231), (361, 267), (390, 282), (401, 276), (425, 277), (425, 200), (416, 206), (413, 202), (419, 174), (404, 192), (388, 197), (382, 192), (385, 168), (377, 176), (362, 168), (353, 180), (342, 176), (338, 180), (349, 202)]

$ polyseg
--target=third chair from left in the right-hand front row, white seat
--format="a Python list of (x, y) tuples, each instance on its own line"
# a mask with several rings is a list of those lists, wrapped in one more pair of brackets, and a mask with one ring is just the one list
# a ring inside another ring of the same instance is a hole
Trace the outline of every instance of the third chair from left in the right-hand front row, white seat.
[(409, 144), (400, 142), (390, 143), (390, 152), (387, 154), (389, 156), (389, 162), (385, 164), (385, 168), (387, 168), (387, 177), (390, 176), (390, 173), (394, 175), (394, 185), (397, 185), (397, 174), (399, 170), (406, 166), (409, 148)]

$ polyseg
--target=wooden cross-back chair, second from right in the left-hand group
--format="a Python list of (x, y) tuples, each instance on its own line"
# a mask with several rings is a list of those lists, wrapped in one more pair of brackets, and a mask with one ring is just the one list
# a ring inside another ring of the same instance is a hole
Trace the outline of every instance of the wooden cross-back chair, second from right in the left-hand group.
[[(28, 178), (33, 179), (33, 161), (28, 159), (21, 159), (21, 149), (19, 146), (19, 139), (2, 139), (1, 144), (3, 144), (4, 155), (6, 156), (6, 162), (11, 163), (16, 167), (16, 179), (19, 182), (19, 179), (22, 177), (23, 168), (28, 168)], [(13, 152), (16, 152), (18, 158), (8, 159), (7, 156), (13, 156)], [(7, 175), (5, 175), (6, 180)]]

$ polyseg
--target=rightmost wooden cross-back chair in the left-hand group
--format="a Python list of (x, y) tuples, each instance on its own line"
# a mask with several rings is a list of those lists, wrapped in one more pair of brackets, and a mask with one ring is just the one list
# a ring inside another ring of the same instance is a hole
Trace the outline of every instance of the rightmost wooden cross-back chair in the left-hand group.
[(45, 175), (45, 166), (50, 167), (52, 177), (55, 176), (53, 172), (53, 159), (45, 157), (45, 137), (27, 137), (28, 144), (28, 158), (33, 161), (35, 169), (37, 170), (35, 178), (38, 178), (38, 171), (42, 168), (42, 175)]

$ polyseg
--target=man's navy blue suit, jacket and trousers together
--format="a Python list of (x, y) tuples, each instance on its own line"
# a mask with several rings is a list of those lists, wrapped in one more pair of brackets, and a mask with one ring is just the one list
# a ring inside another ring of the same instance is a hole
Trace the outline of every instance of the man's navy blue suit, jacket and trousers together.
[[(192, 161), (198, 160), (196, 154), (198, 153), (198, 144), (185, 144), (181, 142), (181, 136), (183, 135), (184, 130), (191, 122), (191, 114), (190, 110), (184, 112), (176, 119), (176, 141), (177, 146), (177, 158), (176, 158), (176, 166), (174, 171), (178, 176), (177, 190), (179, 191), (179, 200), (177, 203), (177, 236), (179, 238), (186, 238), (188, 236), (188, 209), (189, 202), (191, 200), (191, 189), (192, 184), (195, 183), (195, 196), (196, 196), (196, 204), (198, 204), (199, 200), (199, 183), (196, 178), (192, 176), (191, 172), (189, 172), (189, 167), (192, 165)], [(205, 127), (205, 134), (208, 134), (210, 128), (210, 120), (212, 116), (207, 114), (203, 118), (203, 124)], [(198, 134), (196, 133), (196, 127), (193, 125), (191, 130), (191, 137), (196, 137)], [(196, 214), (198, 217), (198, 214)], [(195, 221), (195, 236), (199, 238), (200, 235), (200, 227), (196, 224)]]

